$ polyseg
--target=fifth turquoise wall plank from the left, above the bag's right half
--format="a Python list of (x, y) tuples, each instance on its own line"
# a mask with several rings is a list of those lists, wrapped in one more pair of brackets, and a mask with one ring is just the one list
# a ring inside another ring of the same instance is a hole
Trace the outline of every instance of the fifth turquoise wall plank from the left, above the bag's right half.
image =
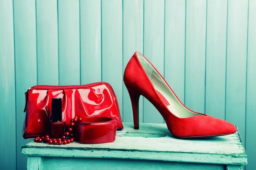
[(80, 1), (81, 84), (101, 81), (101, 0)]

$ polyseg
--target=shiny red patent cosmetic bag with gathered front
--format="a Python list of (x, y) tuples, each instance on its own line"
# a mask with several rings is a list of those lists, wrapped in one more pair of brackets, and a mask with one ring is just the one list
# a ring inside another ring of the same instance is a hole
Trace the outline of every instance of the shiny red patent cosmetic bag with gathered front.
[(116, 120), (117, 130), (123, 129), (117, 97), (109, 83), (52, 86), (36, 85), (25, 92), (26, 117), (24, 139), (49, 133), (52, 98), (62, 98), (62, 119), (66, 129), (77, 117), (105, 116)]

